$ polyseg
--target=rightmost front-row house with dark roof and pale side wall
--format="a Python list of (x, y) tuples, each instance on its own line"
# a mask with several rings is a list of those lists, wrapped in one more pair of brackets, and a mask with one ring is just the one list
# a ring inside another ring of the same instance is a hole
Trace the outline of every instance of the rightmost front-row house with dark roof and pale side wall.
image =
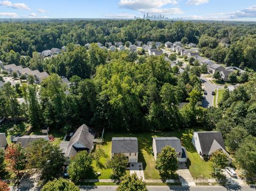
[(222, 150), (227, 154), (231, 162), (231, 157), (226, 150), (221, 132), (196, 131), (193, 134), (192, 143), (195, 146), (197, 153), (203, 159), (209, 159), (213, 152)]

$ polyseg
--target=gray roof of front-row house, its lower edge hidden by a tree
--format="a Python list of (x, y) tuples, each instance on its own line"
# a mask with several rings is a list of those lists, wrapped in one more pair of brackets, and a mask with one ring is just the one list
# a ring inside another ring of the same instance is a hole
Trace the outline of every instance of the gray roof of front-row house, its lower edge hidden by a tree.
[(177, 153), (182, 153), (181, 142), (177, 137), (154, 137), (156, 141), (156, 152), (161, 153), (165, 146), (175, 148)]

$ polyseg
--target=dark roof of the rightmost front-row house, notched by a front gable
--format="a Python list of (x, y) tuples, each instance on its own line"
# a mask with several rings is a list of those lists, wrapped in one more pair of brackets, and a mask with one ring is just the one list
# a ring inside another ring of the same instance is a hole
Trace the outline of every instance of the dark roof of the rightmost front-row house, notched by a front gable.
[[(221, 135), (221, 132), (217, 131), (205, 131), (205, 132), (197, 132), (199, 143), (201, 146), (202, 154), (207, 155), (211, 150), (214, 140), (221, 146), (221, 149), (226, 151), (226, 147)], [(214, 146), (216, 150), (216, 147)]]

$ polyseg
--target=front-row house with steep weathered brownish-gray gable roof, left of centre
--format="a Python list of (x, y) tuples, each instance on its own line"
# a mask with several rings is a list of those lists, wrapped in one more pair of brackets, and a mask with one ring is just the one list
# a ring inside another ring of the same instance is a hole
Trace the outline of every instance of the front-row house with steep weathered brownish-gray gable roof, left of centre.
[(68, 158), (75, 156), (79, 151), (86, 150), (88, 153), (91, 153), (94, 147), (94, 136), (93, 130), (86, 126), (86, 124), (82, 124), (70, 138), (69, 142), (63, 141), (60, 143), (60, 149), (64, 156)]

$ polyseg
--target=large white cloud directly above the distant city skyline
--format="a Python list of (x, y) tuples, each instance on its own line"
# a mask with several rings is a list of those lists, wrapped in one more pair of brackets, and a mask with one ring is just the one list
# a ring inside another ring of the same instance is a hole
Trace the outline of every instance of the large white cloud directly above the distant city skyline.
[(165, 5), (176, 5), (177, 0), (120, 0), (118, 6), (140, 13), (181, 14), (179, 8), (163, 8)]

